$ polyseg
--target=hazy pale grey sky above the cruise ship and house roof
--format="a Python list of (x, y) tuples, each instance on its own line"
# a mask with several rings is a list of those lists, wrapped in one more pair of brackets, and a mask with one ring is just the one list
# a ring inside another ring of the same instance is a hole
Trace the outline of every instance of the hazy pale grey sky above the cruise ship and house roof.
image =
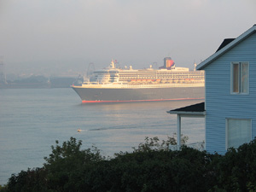
[(162, 66), (193, 68), (256, 24), (255, 0), (0, 0), (6, 73)]

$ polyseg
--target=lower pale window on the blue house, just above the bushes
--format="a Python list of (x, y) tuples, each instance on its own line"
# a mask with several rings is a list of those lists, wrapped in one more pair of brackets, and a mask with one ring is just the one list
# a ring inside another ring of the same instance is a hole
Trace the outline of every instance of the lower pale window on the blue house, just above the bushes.
[(226, 148), (238, 148), (251, 140), (251, 119), (226, 119)]

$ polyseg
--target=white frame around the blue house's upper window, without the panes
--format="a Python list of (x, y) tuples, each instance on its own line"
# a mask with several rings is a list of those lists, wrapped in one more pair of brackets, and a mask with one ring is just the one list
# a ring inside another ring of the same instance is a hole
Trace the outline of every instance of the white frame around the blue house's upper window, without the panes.
[[(234, 92), (234, 64), (238, 64), (238, 91)], [(247, 91), (246, 92), (241, 92), (241, 64), (247, 64)], [(249, 75), (250, 75), (250, 70), (249, 70), (249, 62), (248, 61), (243, 61), (243, 62), (231, 62), (230, 64), (230, 94), (232, 95), (249, 95)]]

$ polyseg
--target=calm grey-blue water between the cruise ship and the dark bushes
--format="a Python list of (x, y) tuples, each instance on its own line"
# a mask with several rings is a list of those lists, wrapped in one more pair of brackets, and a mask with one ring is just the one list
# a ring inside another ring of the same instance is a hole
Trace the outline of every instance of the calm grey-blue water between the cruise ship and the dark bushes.
[[(42, 167), (55, 140), (76, 137), (83, 148), (96, 145), (103, 155), (132, 151), (145, 137), (166, 139), (176, 132), (173, 108), (202, 102), (81, 104), (72, 89), (0, 90), (0, 184), (12, 173)], [(183, 119), (189, 143), (204, 140), (204, 119)], [(82, 131), (78, 132), (77, 130)]]

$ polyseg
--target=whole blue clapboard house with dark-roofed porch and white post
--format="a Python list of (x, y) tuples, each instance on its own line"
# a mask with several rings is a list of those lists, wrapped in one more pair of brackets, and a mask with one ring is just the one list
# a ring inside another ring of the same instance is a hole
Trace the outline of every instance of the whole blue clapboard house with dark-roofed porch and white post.
[(204, 117), (205, 149), (224, 154), (256, 137), (256, 25), (238, 38), (224, 39), (217, 51), (202, 61), (205, 102), (177, 108), (177, 143), (181, 117)]

